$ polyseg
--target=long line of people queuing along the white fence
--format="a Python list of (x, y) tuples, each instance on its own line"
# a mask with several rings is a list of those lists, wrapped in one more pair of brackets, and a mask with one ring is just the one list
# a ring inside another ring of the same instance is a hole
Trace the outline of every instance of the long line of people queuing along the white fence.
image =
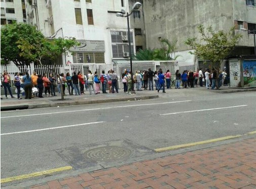
[[(133, 75), (133, 78), (132, 78)], [(165, 92), (165, 86), (167, 89), (171, 88), (172, 84), (175, 83), (175, 88), (194, 88), (199, 86), (205, 86), (206, 88), (211, 87), (214, 89), (216, 86), (216, 80), (218, 80), (218, 87), (221, 87), (222, 84), (227, 84), (226, 82), (227, 73), (225, 70), (220, 71), (217, 74), (217, 69), (213, 68), (211, 71), (209, 69), (205, 69), (203, 72), (202, 69), (197, 71), (188, 71), (185, 70), (180, 73), (179, 70), (176, 70), (175, 76), (173, 78), (174, 81), (171, 80), (170, 70), (163, 72), (162, 69), (158, 71), (152, 71), (151, 68), (144, 71), (136, 71), (135, 74), (132, 74), (131, 71), (124, 70), (122, 73), (122, 83), (124, 92), (131, 93), (133, 90), (133, 84), (136, 84), (136, 89), (138, 91), (141, 90), (163, 90)], [(3, 79), (2, 79), (3, 78)], [(115, 93), (119, 92), (118, 90), (118, 78), (119, 76), (115, 73), (114, 70), (109, 70), (107, 73), (103, 70), (101, 74), (98, 74), (97, 71), (94, 74), (89, 70), (88, 75), (82, 74), (80, 71), (78, 73), (73, 72), (72, 76), (69, 72), (65, 75), (64, 73), (60, 74), (60, 79), (53, 76), (52, 73), (47, 76), (46, 73), (43, 75), (36, 74), (33, 71), (33, 74), (30, 76), (28, 72), (24, 75), (22, 73), (15, 73), (14, 76), (14, 85), (17, 88), (17, 98), (22, 99), (20, 97), (20, 93), (25, 95), (25, 99), (31, 99), (32, 93), (34, 93), (35, 97), (44, 98), (43, 92), (45, 93), (45, 97), (53, 97), (56, 95), (56, 87), (58, 92), (61, 93), (61, 88), (63, 90), (63, 95), (66, 96), (65, 89), (67, 88), (69, 95), (84, 95), (85, 90), (88, 91), (90, 95), (97, 95), (100, 93), (100, 86), (102, 93)], [(11, 77), (8, 74), (7, 70), (4, 71), (3, 75), (1, 75), (1, 81), (3, 83), (5, 89), (5, 96), (7, 96), (7, 91), (10, 93), (11, 98), (15, 98), (12, 94), (10, 81)], [(109, 91), (106, 92), (107, 87)], [(21, 88), (24, 89), (24, 92), (21, 91)], [(32, 89), (34, 91), (32, 91)]]

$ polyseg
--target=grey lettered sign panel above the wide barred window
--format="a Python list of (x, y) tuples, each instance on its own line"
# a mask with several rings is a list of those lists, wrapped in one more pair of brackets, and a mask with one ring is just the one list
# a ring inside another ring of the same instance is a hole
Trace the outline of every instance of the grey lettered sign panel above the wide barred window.
[(103, 40), (77, 40), (79, 46), (71, 48), (73, 52), (105, 52), (105, 41)]

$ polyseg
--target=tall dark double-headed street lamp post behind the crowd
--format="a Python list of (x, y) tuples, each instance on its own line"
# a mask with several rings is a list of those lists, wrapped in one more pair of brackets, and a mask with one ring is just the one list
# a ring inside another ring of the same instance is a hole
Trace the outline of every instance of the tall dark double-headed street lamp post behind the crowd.
[(132, 77), (132, 90), (134, 90), (134, 83), (133, 83), (133, 71), (132, 71), (132, 50), (131, 50), (131, 35), (130, 35), (130, 21), (129, 21), (129, 16), (136, 10), (138, 10), (141, 6), (141, 3), (136, 2), (133, 6), (132, 6), (132, 11), (131, 13), (126, 13), (125, 15), (125, 11), (121, 10), (120, 13), (117, 13), (116, 16), (118, 17), (126, 17), (127, 18), (127, 27), (128, 27), (128, 42), (129, 42), (129, 57), (130, 57), (130, 71), (131, 71), (131, 77)]

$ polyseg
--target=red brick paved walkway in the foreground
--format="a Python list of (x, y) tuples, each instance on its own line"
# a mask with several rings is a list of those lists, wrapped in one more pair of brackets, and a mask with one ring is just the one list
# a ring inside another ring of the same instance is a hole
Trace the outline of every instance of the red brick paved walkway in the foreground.
[(29, 188), (256, 188), (256, 137)]

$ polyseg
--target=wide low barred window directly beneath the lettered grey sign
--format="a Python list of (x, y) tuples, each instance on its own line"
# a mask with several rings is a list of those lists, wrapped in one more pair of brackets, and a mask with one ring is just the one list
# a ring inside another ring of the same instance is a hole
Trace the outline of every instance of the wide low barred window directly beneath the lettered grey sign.
[(75, 53), (73, 55), (74, 63), (105, 63), (104, 53)]

